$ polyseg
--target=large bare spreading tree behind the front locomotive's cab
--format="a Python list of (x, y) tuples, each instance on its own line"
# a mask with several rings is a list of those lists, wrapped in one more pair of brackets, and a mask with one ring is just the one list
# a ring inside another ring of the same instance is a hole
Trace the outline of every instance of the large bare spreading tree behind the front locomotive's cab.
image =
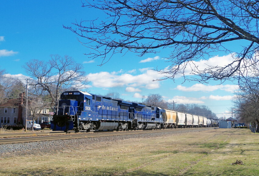
[(52, 101), (51, 106), (59, 100), (60, 93), (65, 89), (83, 89), (89, 84), (82, 64), (76, 63), (70, 56), (51, 55), (48, 62), (33, 59), (23, 68), (33, 79), (30, 79), (31, 88), (34, 92), (41, 88), (41, 94), (47, 92)]

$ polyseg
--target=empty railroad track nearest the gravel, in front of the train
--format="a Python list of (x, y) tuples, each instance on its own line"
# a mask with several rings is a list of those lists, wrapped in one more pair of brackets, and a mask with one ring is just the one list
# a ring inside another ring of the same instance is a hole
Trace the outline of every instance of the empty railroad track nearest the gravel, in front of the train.
[[(22, 143), (22, 142), (39, 142), (39, 141), (51, 141), (51, 140), (62, 140), (62, 139), (93, 138), (93, 137), (101, 137), (101, 136), (133, 135), (133, 134), (159, 133), (159, 132), (169, 132), (169, 131), (186, 131), (186, 130), (194, 130), (194, 129), (199, 129), (199, 128), (165, 129), (165, 130), (136, 130), (136, 131), (119, 131), (119, 132), (99, 131), (98, 133), (97, 132), (96, 133), (87, 132), (87, 133), (80, 133), (77, 135), (69, 135), (69, 134), (66, 134), (65, 132), (63, 132), (62, 136), (52, 136), (51, 135), (51, 136), (29, 137), (29, 138), (0, 139), (0, 145), (1, 144), (11, 144), (11, 143)], [(105, 132), (105, 133), (103, 133), (103, 132)], [(66, 135), (64, 135), (64, 134), (66, 134)]]

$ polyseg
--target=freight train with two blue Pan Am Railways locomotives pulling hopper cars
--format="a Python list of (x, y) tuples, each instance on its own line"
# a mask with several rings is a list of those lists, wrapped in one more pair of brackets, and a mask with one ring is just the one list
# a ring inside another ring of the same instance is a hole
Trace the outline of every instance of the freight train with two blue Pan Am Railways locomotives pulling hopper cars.
[(159, 107), (66, 91), (55, 106), (53, 131), (133, 130), (216, 126), (217, 120)]

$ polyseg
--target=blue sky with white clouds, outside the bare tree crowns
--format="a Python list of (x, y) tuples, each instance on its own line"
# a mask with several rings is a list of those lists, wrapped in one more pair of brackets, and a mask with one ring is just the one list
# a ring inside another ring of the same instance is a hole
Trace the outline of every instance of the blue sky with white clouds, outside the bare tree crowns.
[[(165, 68), (169, 64), (163, 59), (169, 54), (165, 51), (143, 57), (135, 53), (117, 55), (105, 65), (98, 66), (101, 59), (84, 55), (90, 52), (89, 48), (81, 45), (74, 33), (63, 28), (63, 25), (73, 26), (71, 23), (75, 20), (101, 18), (100, 12), (82, 8), (80, 0), (1, 0), (0, 16), (0, 69), (5, 69), (7, 74), (27, 76), (22, 66), (30, 59), (48, 60), (51, 54), (68, 55), (83, 64), (91, 81), (90, 93), (119, 92), (122, 99), (131, 101), (141, 101), (143, 95), (158, 93), (168, 102), (206, 105), (218, 117), (231, 116), (231, 98), (237, 88), (233, 82), (221, 85), (217, 85), (220, 84), (217, 81), (181, 84), (181, 75), (175, 82), (152, 81), (162, 77), (151, 69), (157, 66)], [(224, 64), (230, 55), (219, 53), (219, 56), (208, 59), (207, 63)], [(197, 64), (205, 66), (203, 60)]]

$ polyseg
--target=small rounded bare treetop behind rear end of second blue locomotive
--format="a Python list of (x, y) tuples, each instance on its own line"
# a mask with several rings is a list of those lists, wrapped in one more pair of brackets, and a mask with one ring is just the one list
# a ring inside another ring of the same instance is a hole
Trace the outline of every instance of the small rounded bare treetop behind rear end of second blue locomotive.
[(142, 99), (146, 106), (155, 106), (160, 108), (168, 108), (168, 103), (160, 94), (149, 94), (146, 99)]

